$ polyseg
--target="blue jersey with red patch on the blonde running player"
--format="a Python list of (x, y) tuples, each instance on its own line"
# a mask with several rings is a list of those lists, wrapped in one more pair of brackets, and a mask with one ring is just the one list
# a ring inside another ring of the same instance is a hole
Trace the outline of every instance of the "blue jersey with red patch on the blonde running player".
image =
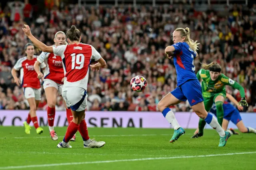
[(179, 42), (172, 45), (174, 51), (174, 65), (177, 73), (178, 86), (188, 80), (197, 79), (195, 74), (194, 58), (196, 52), (193, 51), (186, 42)]

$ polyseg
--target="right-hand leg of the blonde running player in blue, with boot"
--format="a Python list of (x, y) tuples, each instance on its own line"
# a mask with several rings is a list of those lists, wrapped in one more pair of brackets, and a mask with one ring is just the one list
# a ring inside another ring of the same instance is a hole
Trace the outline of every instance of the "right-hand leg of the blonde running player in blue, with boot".
[(224, 131), (223, 128), (218, 123), (217, 119), (213, 117), (210, 113), (207, 113), (207, 111), (204, 109), (203, 102), (193, 105), (192, 109), (200, 118), (204, 119), (206, 123), (208, 123), (212, 128), (214, 128), (218, 132), (218, 134), (220, 135), (219, 146), (225, 146), (228, 138), (230, 137), (230, 132)]

